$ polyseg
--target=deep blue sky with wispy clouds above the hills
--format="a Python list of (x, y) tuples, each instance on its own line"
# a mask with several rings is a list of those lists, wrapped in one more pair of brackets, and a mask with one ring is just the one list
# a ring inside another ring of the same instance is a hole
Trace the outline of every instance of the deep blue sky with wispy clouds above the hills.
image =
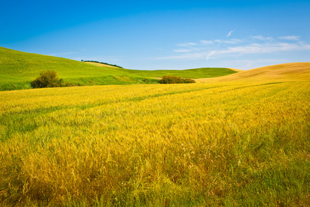
[(310, 1), (3, 1), (0, 46), (139, 70), (310, 61)]

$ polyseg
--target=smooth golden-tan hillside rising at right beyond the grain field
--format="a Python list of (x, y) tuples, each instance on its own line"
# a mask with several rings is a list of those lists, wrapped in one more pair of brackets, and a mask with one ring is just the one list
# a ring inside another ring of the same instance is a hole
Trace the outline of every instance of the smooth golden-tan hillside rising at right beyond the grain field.
[(225, 77), (198, 79), (196, 81), (310, 81), (310, 62), (283, 63), (244, 70)]

